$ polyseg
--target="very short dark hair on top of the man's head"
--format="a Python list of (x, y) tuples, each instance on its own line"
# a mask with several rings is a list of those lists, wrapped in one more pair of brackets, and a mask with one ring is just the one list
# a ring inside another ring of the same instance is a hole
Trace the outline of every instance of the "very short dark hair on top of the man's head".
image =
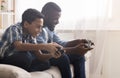
[(41, 13), (46, 15), (46, 14), (49, 14), (50, 12), (52, 12), (52, 11), (61, 12), (61, 8), (54, 2), (48, 2), (43, 6)]

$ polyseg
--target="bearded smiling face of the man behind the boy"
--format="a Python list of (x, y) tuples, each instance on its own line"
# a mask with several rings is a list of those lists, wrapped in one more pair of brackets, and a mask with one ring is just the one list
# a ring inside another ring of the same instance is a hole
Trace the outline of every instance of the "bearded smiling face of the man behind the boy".
[(60, 16), (61, 13), (57, 11), (52, 11), (45, 16), (45, 23), (51, 31), (53, 31), (55, 26), (59, 23)]

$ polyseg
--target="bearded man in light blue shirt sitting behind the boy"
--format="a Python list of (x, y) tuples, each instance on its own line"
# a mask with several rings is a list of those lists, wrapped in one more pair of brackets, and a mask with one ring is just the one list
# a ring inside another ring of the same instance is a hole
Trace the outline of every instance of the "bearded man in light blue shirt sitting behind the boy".
[[(44, 14), (44, 26), (42, 34), (37, 38), (38, 43), (55, 43), (62, 45), (66, 53), (60, 58), (50, 59), (50, 64), (60, 69), (62, 78), (72, 78), (70, 63), (74, 66), (74, 78), (86, 78), (85, 76), (85, 58), (84, 54), (92, 48), (85, 48), (87, 40), (73, 40), (64, 42), (55, 34), (55, 26), (59, 23), (61, 8), (53, 3), (48, 2), (41, 11)], [(70, 48), (72, 47), (72, 48)], [(44, 53), (44, 51), (43, 51)]]

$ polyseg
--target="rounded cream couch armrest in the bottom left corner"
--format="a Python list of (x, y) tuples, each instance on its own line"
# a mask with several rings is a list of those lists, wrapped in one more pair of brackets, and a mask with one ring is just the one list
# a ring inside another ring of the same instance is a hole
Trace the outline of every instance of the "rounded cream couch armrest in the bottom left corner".
[(31, 74), (16, 66), (0, 64), (0, 78), (31, 78)]

